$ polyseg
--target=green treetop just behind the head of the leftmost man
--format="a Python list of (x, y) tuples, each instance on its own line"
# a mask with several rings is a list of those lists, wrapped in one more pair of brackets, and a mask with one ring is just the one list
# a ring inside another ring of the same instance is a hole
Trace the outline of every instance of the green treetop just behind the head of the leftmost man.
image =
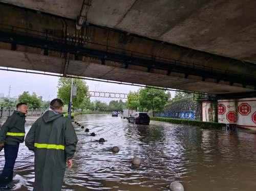
[(28, 91), (24, 91), (23, 94), (18, 96), (17, 103), (26, 103), (29, 108), (39, 109), (42, 107), (42, 97), (37, 97), (36, 93), (29, 94)]

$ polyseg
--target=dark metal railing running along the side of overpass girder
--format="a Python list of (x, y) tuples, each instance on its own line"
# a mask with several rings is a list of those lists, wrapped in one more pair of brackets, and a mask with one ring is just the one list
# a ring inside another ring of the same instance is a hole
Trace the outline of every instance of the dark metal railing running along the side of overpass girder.
[[(236, 71), (229, 71), (229, 70), (225, 70), (225, 69), (204, 66), (204, 65), (200, 65), (200, 64), (194, 64), (194, 63), (175, 60), (175, 59), (171, 59), (171, 58), (165, 58), (165, 57), (160, 57), (160, 56), (156, 56), (156, 55), (150, 55), (150, 54), (140, 53), (140, 52), (136, 52), (136, 51), (120, 49), (118, 47), (109, 46), (108, 43), (107, 44), (99, 44), (99, 43), (89, 42), (88, 39), (80, 38), (79, 37), (80, 35), (78, 35), (78, 37), (77, 37), (77, 35), (75, 35), (75, 37), (74, 37), (74, 36), (68, 35), (67, 32), (65, 35), (63, 34), (62, 36), (59, 36), (59, 35), (49, 34), (46, 32), (40, 32), (40, 31), (5, 25), (3, 23), (0, 23), (0, 30), (2, 32), (7, 31), (8, 33), (11, 33), (11, 34), (23, 34), (24, 36), (29, 36), (29, 37), (35, 36), (37, 38), (44, 39), (45, 41), (59, 42), (59, 43), (64, 43), (64, 44), (69, 44), (69, 45), (75, 45), (78, 47), (82, 46), (82, 47), (86, 48), (87, 46), (90, 46), (89, 44), (91, 44), (91, 46), (92, 45), (101, 46), (100, 48), (98, 48), (96, 50), (104, 51), (106, 53), (116, 53), (116, 54), (120, 54), (120, 55), (129, 56), (130, 58), (142, 58), (142, 59), (151, 60), (154, 62), (162, 62), (162, 63), (183, 66), (183, 67), (188, 67), (188, 68), (193, 68), (193, 69), (212, 71), (212, 72), (223, 74), (223, 75), (233, 75), (233, 76), (239, 76), (239, 77), (248, 78), (248, 79), (256, 79), (256, 77), (254, 75), (238, 73)], [(88, 47), (88, 48), (91, 48), (91, 47)], [(95, 49), (95, 47), (94, 47), (94, 49)]]

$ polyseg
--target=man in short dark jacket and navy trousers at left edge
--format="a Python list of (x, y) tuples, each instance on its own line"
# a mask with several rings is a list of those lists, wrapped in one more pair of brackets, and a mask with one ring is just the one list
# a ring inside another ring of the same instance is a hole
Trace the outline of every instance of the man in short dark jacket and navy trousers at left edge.
[(0, 147), (5, 150), (5, 166), (0, 175), (0, 190), (10, 189), (7, 184), (12, 181), (13, 168), (18, 155), (19, 144), (24, 142), (25, 136), (25, 114), (28, 112), (28, 106), (25, 103), (19, 103), (16, 111), (9, 116), (1, 127)]

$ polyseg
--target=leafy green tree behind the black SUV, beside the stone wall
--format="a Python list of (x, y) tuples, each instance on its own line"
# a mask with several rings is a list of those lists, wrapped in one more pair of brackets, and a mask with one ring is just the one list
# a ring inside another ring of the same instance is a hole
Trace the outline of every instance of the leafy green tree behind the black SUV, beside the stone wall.
[(139, 104), (147, 110), (153, 110), (153, 116), (155, 112), (164, 111), (164, 105), (170, 98), (170, 93), (161, 89), (154, 88), (142, 88), (140, 89)]

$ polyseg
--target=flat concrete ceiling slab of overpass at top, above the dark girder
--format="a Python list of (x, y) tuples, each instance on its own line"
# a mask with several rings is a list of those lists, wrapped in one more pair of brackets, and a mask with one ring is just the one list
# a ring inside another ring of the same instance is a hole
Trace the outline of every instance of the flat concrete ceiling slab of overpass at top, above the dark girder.
[[(83, 0), (2, 0), (1, 2), (71, 19), (77, 19), (83, 5)], [(189, 49), (256, 63), (254, 53), (256, 13), (252, 9), (256, 7), (256, 1), (96, 0), (91, 2), (89, 11), (87, 6), (82, 9), (77, 29), (80, 29), (79, 25), (87, 18), (87, 22), (118, 29), (127, 34), (133, 33)], [(200, 53), (191, 54), (193, 57)], [(211, 58), (206, 57), (205, 61), (209, 59)]]

